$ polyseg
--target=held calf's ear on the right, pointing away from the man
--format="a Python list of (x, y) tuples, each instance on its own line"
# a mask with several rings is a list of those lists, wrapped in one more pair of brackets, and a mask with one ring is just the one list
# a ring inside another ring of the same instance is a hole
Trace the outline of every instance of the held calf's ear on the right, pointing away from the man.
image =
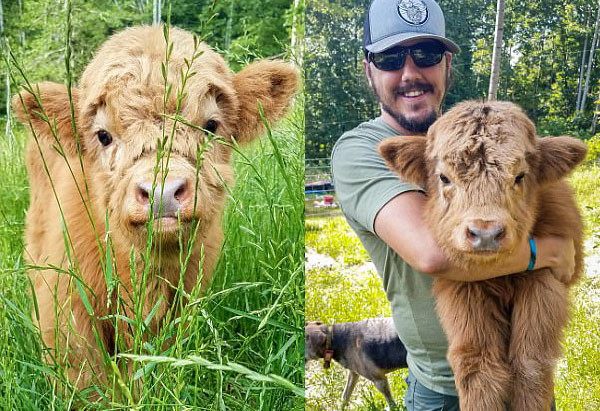
[(538, 181), (556, 181), (566, 176), (587, 154), (586, 144), (573, 137), (544, 137), (537, 140), (540, 153)]

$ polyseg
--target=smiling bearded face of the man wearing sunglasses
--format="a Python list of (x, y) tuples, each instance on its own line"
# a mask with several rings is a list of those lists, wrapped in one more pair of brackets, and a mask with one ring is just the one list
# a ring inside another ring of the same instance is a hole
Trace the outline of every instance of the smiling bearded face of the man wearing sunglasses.
[[(412, 46), (420, 41), (406, 42)], [(424, 133), (440, 114), (446, 94), (452, 54), (445, 53), (440, 63), (417, 67), (410, 55), (399, 70), (383, 71), (364, 61), (373, 92), (381, 104), (384, 119), (410, 133)]]

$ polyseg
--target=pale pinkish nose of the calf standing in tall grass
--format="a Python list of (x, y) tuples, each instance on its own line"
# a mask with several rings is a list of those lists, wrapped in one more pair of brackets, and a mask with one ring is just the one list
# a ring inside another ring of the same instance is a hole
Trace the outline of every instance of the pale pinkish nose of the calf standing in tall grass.
[(177, 217), (177, 212), (189, 200), (190, 195), (186, 181), (181, 178), (166, 180), (164, 185), (157, 182), (154, 191), (151, 182), (139, 183), (136, 187), (136, 200), (146, 210), (150, 207), (150, 197), (154, 202), (155, 217)]

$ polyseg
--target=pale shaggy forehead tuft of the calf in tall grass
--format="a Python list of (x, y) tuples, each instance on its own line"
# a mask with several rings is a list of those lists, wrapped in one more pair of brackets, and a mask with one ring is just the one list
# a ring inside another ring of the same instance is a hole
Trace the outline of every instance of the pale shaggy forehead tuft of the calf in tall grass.
[[(187, 70), (184, 59), (192, 61), (196, 52), (199, 55), (190, 70), (196, 74), (189, 79), (186, 91), (193, 89), (191, 95), (198, 97), (217, 89), (225, 95), (234, 93), (233, 73), (218, 53), (204, 43), (194, 50), (193, 36), (177, 28), (170, 29), (169, 42), (173, 43), (173, 49), (168, 75), (174, 87), (180, 83), (181, 71)], [(134, 27), (114, 35), (98, 50), (81, 77), (83, 106), (98, 104), (108, 92), (117, 92), (132, 100), (144, 95), (162, 100), (165, 54), (162, 27)]]

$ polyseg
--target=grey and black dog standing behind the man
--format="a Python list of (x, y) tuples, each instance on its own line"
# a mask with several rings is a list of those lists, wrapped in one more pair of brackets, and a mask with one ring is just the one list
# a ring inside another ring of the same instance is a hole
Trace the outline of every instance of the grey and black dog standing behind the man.
[(370, 318), (355, 323), (306, 323), (304, 328), (305, 362), (323, 358), (324, 367), (331, 360), (350, 371), (342, 394), (342, 410), (348, 405), (358, 377), (371, 380), (383, 394), (390, 409), (397, 409), (386, 374), (408, 368), (406, 347), (398, 338), (391, 318)]

